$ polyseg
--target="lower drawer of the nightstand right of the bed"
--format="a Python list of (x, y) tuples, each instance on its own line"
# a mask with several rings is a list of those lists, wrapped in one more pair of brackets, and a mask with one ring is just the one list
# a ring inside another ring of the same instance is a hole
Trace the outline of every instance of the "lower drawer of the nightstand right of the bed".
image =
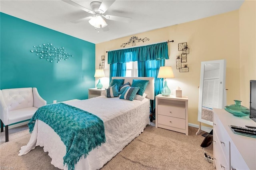
[(180, 119), (180, 118), (176, 118), (176, 117), (158, 115), (158, 124), (176, 127), (176, 128), (180, 128), (180, 129), (186, 129), (185, 119)]

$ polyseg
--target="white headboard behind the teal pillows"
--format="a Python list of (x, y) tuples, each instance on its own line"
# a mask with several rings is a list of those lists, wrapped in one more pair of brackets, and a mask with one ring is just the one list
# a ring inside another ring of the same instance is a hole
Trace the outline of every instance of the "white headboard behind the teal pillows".
[(112, 79), (124, 79), (124, 84), (127, 82), (130, 82), (132, 85), (132, 80), (133, 79), (138, 79), (138, 80), (149, 80), (148, 86), (146, 87), (146, 90), (144, 93), (147, 94), (148, 99), (154, 100), (155, 97), (155, 91), (154, 91), (154, 85), (155, 85), (155, 80), (154, 77), (112, 77)]

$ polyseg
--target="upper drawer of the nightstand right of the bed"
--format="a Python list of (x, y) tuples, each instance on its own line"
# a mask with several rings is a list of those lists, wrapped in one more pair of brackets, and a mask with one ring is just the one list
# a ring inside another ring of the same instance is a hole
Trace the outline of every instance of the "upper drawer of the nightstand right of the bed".
[(168, 105), (158, 105), (158, 115), (166, 115), (185, 119), (186, 109), (182, 107), (168, 106)]

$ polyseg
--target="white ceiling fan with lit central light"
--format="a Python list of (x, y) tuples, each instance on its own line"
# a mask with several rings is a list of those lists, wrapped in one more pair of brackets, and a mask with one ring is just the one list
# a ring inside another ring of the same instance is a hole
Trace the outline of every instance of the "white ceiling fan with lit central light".
[[(114, 21), (121, 21), (121, 22), (130, 22), (132, 18), (127, 17), (120, 17), (120, 16), (112, 16), (112, 15), (104, 15), (104, 13), (108, 10), (108, 8), (115, 2), (115, 0), (104, 0), (102, 2), (93, 1), (90, 3), (91, 10), (84, 8), (80, 4), (77, 4), (76, 2), (72, 0), (62, 0), (72, 6), (78, 7), (90, 14), (92, 16), (88, 16), (79, 20), (71, 21), (72, 23), (79, 23), (82, 21), (89, 20), (89, 23), (94, 26), (95, 28), (104, 28), (108, 24), (104, 20), (106, 18), (107, 20), (114, 20)], [(107, 31), (107, 29), (105, 29)]]

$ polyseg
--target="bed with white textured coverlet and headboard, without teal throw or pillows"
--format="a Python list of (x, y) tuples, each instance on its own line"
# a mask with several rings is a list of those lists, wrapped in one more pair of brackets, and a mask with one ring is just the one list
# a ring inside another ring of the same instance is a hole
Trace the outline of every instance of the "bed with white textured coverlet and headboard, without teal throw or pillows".
[[(99, 96), (88, 100), (70, 100), (62, 102), (70, 106), (88, 111), (104, 122), (106, 143), (89, 152), (88, 156), (82, 156), (74, 165), (76, 170), (100, 169), (120, 152), (133, 139), (144, 131), (150, 123), (150, 99), (154, 100), (154, 78), (152, 77), (112, 77), (124, 79), (124, 84), (133, 79), (149, 80), (144, 94), (146, 98), (140, 100), (124, 100), (119, 97), (106, 98)], [(44, 148), (44, 152), (52, 158), (51, 164), (55, 167), (67, 170), (63, 157), (66, 154), (66, 146), (57, 133), (46, 123), (36, 120), (30, 141), (21, 147), (19, 156), (27, 154), (36, 146)]]

